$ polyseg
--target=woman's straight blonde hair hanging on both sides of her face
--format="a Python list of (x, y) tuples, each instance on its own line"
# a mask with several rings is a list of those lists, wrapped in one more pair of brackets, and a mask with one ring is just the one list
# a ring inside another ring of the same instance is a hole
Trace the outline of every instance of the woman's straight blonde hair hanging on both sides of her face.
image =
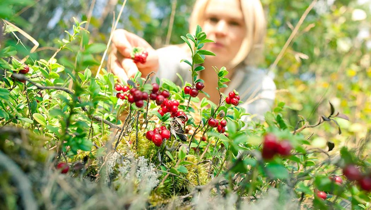
[[(262, 57), (263, 41), (266, 34), (266, 19), (260, 0), (239, 0), (244, 21), (246, 24), (246, 37), (241, 47), (231, 61), (230, 66), (238, 64), (256, 65)], [(209, 0), (196, 0), (189, 21), (190, 33), (196, 33), (197, 25), (203, 26), (204, 14)]]

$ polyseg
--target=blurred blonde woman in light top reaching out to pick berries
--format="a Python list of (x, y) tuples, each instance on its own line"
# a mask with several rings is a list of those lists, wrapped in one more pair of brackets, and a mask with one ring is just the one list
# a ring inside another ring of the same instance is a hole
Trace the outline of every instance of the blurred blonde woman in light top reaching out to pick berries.
[[(212, 66), (225, 66), (231, 80), (223, 90), (229, 93), (233, 89), (239, 92), (240, 106), (247, 113), (257, 114), (262, 119), (269, 111), (276, 86), (272, 79), (254, 66), (262, 54), (266, 21), (259, 0), (197, 0), (190, 17), (190, 31), (194, 34), (200, 25), (207, 38), (215, 43), (206, 43), (205, 50), (216, 56), (206, 56), (202, 64), (205, 70), (200, 72), (200, 79), (205, 82), (203, 91), (210, 94), (210, 100), (219, 101), (216, 90), (217, 75)], [(188, 46), (173, 45), (154, 50), (147, 41), (125, 30), (116, 30), (112, 39), (111, 70), (120, 79), (126, 80), (139, 70), (142, 75), (156, 71), (156, 76), (167, 78), (180, 84), (176, 73), (185, 81), (192, 81), (189, 66), (180, 63), (181, 59), (191, 60)], [(131, 48), (144, 47), (148, 51), (147, 62), (135, 64), (130, 57)], [(200, 97), (203, 97), (200, 95)]]

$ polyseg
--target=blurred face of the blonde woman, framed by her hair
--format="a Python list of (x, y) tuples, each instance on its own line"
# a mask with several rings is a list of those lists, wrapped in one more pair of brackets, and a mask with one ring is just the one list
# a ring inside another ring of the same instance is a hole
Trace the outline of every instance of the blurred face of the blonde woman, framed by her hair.
[(206, 43), (205, 50), (216, 56), (207, 56), (207, 61), (223, 66), (234, 59), (246, 36), (246, 26), (239, 0), (210, 0), (205, 11), (202, 30), (207, 39), (215, 43)]

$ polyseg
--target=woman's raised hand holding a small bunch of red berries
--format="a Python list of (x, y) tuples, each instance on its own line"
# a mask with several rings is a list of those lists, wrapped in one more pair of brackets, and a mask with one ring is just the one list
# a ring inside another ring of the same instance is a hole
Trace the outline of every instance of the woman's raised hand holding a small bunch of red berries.
[[(130, 53), (134, 47), (142, 47), (148, 52), (145, 63), (134, 63)], [(111, 64), (112, 73), (118, 76), (119, 80), (126, 81), (134, 77), (139, 70), (142, 76), (147, 76), (151, 71), (158, 70), (158, 55), (147, 41), (123, 29), (114, 31), (112, 37), (112, 52), (108, 58)]]

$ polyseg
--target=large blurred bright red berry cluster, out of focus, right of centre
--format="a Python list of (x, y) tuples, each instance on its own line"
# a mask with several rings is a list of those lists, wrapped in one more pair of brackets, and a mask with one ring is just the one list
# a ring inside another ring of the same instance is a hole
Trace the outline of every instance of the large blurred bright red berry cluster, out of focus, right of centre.
[(266, 134), (263, 142), (262, 157), (265, 160), (272, 159), (275, 154), (290, 156), (292, 146), (288, 140), (278, 141), (277, 137), (272, 134)]

